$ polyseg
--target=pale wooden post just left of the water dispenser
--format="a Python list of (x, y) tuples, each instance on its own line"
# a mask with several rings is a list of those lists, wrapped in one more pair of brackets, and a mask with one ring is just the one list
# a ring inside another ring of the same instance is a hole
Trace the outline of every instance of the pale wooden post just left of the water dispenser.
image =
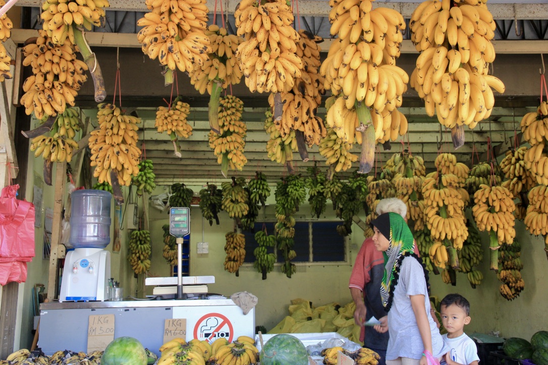
[(57, 285), (59, 241), (61, 240), (61, 212), (66, 182), (66, 162), (55, 166), (55, 197), (53, 202), (52, 247), (49, 254), (48, 299), (53, 300)]

